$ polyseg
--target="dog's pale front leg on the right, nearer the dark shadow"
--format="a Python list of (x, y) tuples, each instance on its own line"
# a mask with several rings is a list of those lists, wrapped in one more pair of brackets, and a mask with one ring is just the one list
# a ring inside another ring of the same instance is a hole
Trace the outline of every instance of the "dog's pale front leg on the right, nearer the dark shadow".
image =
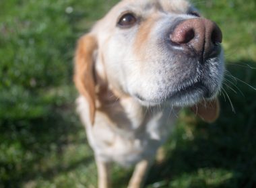
[(150, 169), (151, 162), (150, 160), (141, 160), (136, 164), (135, 170), (129, 181), (128, 188), (139, 188), (143, 186), (146, 176), (148, 175), (148, 170)]

